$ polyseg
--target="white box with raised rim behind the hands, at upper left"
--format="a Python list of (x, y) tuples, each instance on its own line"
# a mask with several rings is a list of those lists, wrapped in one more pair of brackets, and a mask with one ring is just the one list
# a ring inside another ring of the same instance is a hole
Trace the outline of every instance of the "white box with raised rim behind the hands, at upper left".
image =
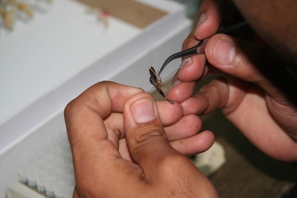
[(167, 14), (145, 28), (111, 17), (110, 27), (102, 29), (83, 4), (54, 0), (28, 24), (18, 21), (13, 32), (0, 30), (0, 196), (28, 156), (66, 131), (63, 109), (69, 101), (102, 80), (148, 90), (148, 68), (161, 67), (181, 50), (191, 30), (184, 7), (138, 1)]

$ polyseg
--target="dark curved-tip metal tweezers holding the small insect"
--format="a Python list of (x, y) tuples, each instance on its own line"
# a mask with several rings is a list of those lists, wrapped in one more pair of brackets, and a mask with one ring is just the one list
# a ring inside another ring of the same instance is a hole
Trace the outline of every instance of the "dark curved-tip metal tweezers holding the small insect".
[[(224, 28), (223, 30), (219, 30), (216, 34), (226, 34), (229, 36), (242, 38), (244, 36), (247, 36), (251, 32), (252, 32), (252, 30), (251, 30), (250, 26), (248, 25), (247, 21), (242, 21), (235, 25)], [(204, 54), (205, 46), (206, 46), (206, 43), (209, 40), (209, 38), (210, 37), (200, 40), (199, 43), (197, 45), (195, 45), (194, 47), (191, 47), (191, 48), (184, 50), (182, 52), (170, 55), (166, 59), (164, 64), (162, 65), (160, 71), (158, 72), (158, 77), (160, 76), (161, 72), (165, 69), (165, 67), (168, 65), (168, 63), (171, 62), (172, 60), (177, 59), (177, 58), (186, 57), (186, 56), (191, 56), (191, 55)]]

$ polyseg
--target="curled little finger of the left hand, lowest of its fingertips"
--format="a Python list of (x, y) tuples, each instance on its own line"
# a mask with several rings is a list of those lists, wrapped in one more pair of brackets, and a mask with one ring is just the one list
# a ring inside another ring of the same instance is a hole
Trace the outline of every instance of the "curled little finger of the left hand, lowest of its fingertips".
[(208, 150), (215, 141), (211, 131), (203, 131), (189, 138), (170, 142), (171, 146), (185, 156), (193, 156)]

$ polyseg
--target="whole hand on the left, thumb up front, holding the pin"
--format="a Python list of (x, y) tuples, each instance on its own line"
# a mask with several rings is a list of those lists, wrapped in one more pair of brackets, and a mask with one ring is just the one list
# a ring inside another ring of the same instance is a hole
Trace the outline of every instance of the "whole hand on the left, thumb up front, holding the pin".
[(181, 112), (177, 103), (157, 104), (141, 89), (111, 82), (70, 102), (65, 122), (74, 197), (217, 197), (210, 181), (180, 153), (203, 152), (213, 135), (194, 135), (198, 129), (188, 123), (199, 120)]

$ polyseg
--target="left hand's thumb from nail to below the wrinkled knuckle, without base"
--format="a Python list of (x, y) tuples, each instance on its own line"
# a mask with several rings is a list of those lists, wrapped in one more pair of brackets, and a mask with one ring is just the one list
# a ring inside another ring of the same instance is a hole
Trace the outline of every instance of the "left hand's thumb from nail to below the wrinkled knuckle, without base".
[(133, 160), (144, 171), (146, 179), (158, 177), (163, 169), (161, 159), (183, 156), (169, 144), (157, 105), (149, 93), (132, 96), (124, 107), (126, 141)]

